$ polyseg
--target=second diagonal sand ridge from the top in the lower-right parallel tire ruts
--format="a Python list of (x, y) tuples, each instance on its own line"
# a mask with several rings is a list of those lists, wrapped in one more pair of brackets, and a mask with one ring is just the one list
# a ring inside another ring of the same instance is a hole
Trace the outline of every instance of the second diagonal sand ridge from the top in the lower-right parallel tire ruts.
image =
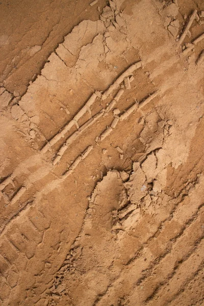
[[(191, 256), (197, 244), (203, 239), (204, 233), (201, 228), (203, 212), (202, 207), (188, 221), (188, 224), (186, 224), (188, 227), (184, 227), (183, 233), (177, 235), (172, 241), (172, 246), (168, 247), (167, 252), (147, 268), (147, 275), (138, 280), (137, 287), (133, 288), (134, 293), (130, 299), (134, 300), (134, 297), (136, 297), (140, 302), (150, 299), (157, 293), (161, 285), (164, 285), (173, 277), (180, 264)], [(141, 286), (143, 287), (142, 291)]]

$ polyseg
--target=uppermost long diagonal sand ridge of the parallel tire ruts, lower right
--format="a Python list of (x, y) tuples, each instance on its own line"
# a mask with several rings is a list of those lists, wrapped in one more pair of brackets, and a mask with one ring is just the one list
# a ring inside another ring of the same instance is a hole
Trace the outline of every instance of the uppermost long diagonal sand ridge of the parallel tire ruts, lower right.
[[(194, 191), (192, 191), (192, 194), (194, 194), (195, 192), (196, 188)], [(169, 218), (162, 222), (157, 221), (156, 223), (156, 221), (154, 221), (154, 226), (158, 226), (158, 230), (155, 231), (154, 235), (148, 237), (146, 241), (143, 240), (142, 245), (137, 250), (135, 256), (129, 262), (127, 262), (119, 277), (115, 279), (107, 293), (99, 298), (96, 305), (104, 305), (108, 302), (107, 298), (113, 298), (114, 300), (114, 296), (119, 294), (119, 292), (121, 291), (121, 282), (124, 282), (125, 279), (128, 279), (129, 286), (134, 287), (134, 285), (137, 284), (139, 279), (141, 279), (143, 271), (148, 269), (149, 264), (151, 264), (158, 258), (162, 258), (167, 252), (169, 240), (173, 240), (176, 238), (177, 235), (183, 233), (185, 227), (183, 223), (188, 223), (190, 220), (193, 220), (194, 216), (196, 216), (196, 214), (203, 206), (203, 203), (198, 202), (193, 203), (193, 205), (191, 201), (186, 203), (186, 205), (184, 205), (183, 202), (179, 202), (170, 212)], [(149, 230), (150, 229), (148, 226), (148, 231)], [(155, 238), (157, 239), (155, 240)], [(152, 254), (152, 250), (157, 250), (158, 246), (159, 252), (155, 255)]]

